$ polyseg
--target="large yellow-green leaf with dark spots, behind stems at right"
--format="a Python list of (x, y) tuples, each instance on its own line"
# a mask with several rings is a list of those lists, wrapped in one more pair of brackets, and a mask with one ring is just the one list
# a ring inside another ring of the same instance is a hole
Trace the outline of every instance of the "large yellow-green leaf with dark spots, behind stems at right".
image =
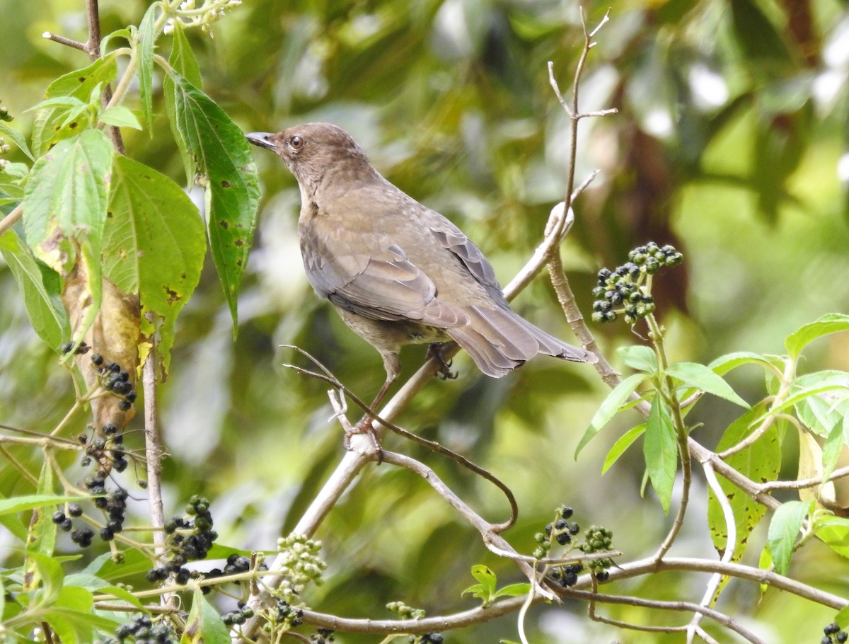
[[(734, 447), (747, 438), (757, 425), (764, 420), (765, 404), (747, 410), (728, 426), (717, 444), (717, 453)], [(735, 470), (752, 481), (774, 481), (781, 470), (781, 444), (779, 431), (771, 425), (763, 435), (745, 449), (728, 456), (726, 462)], [(744, 494), (734, 483), (719, 476), (719, 484), (725, 492), (728, 503), (734, 511), (734, 524), (737, 539), (731, 547), (734, 549), (732, 561), (739, 561), (745, 552), (749, 535), (766, 513), (767, 508), (748, 494)], [(709, 490), (707, 500), (707, 523), (711, 531), (713, 545), (720, 555), (728, 548), (728, 526), (713, 490)]]

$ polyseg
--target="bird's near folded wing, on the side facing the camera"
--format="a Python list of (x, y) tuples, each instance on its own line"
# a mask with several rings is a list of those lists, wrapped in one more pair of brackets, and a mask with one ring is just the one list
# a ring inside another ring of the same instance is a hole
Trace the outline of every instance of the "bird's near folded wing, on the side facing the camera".
[(319, 235), (301, 235), (301, 254), (312, 288), (336, 306), (370, 319), (412, 320), (442, 329), (469, 319), (436, 299), (436, 285), (399, 246), (380, 251), (332, 251)]

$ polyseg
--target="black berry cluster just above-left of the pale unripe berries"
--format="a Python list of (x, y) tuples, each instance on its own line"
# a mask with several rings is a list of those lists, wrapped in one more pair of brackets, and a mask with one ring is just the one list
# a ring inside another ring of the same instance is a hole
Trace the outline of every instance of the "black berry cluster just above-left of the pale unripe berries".
[[(162, 566), (148, 571), (148, 581), (163, 581), (167, 579), (169, 574), (173, 574), (177, 584), (184, 585), (188, 583), (189, 579), (200, 576), (200, 573), (183, 568), (183, 564), (204, 559), (212, 547), (212, 542), (218, 538), (218, 533), (212, 529), (212, 515), (209, 508), (210, 502), (195, 494), (188, 500), (186, 506), (188, 516), (173, 517), (171, 521), (165, 524), (165, 532), (168, 535), (166, 545), (168, 545), (171, 555)], [(235, 555), (231, 557), (239, 558)], [(240, 558), (245, 559), (245, 557)], [(248, 568), (250, 568), (250, 562), (245, 566), (245, 570)], [(227, 568), (225, 568), (226, 570)], [(218, 571), (218, 574), (220, 575), (221, 571)], [(230, 573), (225, 572), (225, 574)]]

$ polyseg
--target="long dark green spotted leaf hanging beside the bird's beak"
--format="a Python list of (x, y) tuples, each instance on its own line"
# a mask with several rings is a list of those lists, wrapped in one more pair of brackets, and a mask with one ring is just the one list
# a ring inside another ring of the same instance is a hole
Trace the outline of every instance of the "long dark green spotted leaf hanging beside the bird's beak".
[(177, 131), (205, 175), (206, 229), (233, 335), (236, 297), (256, 228), (259, 184), (244, 133), (205, 93), (171, 72)]

